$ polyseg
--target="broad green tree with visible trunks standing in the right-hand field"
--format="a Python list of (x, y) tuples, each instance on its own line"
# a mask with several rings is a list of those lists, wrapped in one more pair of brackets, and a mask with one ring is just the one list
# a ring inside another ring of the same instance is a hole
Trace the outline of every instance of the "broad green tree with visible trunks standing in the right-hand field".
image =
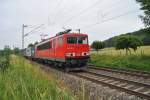
[(126, 54), (128, 54), (128, 51), (130, 52), (130, 48), (136, 51), (141, 45), (142, 41), (135, 36), (120, 36), (116, 41), (116, 49), (126, 49)]

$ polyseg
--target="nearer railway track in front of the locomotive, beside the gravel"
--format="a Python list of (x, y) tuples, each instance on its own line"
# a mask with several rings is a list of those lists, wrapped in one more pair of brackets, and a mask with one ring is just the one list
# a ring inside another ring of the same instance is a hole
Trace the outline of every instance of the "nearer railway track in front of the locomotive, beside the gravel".
[(150, 84), (116, 78), (96, 73), (90, 70), (71, 74), (97, 84), (109, 86), (110, 88), (117, 89), (132, 95), (136, 95), (143, 99), (150, 100)]

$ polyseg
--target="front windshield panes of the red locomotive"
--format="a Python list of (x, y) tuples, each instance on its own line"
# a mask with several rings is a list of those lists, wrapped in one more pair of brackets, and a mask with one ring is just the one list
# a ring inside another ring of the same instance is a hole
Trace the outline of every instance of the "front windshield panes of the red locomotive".
[(88, 44), (87, 37), (68, 37), (67, 38), (68, 44)]

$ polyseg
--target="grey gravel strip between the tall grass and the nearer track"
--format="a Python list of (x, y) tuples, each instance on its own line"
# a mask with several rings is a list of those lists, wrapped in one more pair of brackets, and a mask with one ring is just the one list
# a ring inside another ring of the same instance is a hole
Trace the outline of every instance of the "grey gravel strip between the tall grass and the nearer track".
[(69, 87), (77, 100), (146, 100), (49, 67), (41, 68)]

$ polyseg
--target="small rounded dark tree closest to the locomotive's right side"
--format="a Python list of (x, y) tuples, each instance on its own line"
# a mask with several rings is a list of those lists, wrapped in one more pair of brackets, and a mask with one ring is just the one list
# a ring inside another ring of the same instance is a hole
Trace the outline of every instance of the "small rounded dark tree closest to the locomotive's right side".
[(104, 42), (101, 42), (101, 41), (94, 41), (92, 43), (91, 47), (93, 49), (95, 49), (97, 51), (97, 53), (98, 53), (98, 50), (99, 49), (103, 49), (105, 47), (105, 44), (104, 44)]

